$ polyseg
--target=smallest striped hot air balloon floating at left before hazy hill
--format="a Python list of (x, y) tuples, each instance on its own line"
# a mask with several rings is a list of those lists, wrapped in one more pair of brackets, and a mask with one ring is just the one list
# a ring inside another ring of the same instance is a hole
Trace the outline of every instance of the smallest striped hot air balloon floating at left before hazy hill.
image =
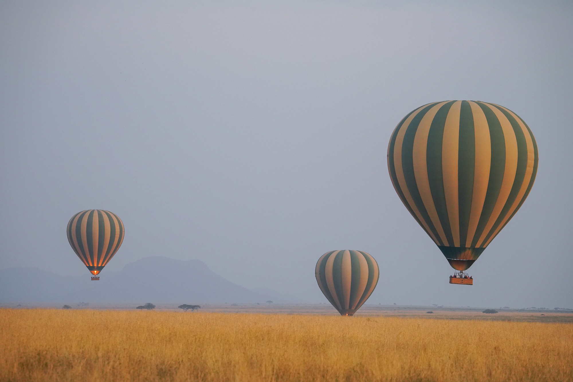
[(99, 273), (123, 242), (123, 222), (116, 214), (104, 210), (85, 210), (68, 223), (68, 241), (77, 257), (99, 280)]

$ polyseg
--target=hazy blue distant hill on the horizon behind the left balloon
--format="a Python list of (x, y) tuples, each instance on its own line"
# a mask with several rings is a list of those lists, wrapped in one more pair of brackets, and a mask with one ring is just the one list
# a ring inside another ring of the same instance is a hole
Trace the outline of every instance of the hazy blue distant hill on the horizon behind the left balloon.
[[(270, 292), (270, 293), (265, 293)], [(249, 290), (215, 274), (199, 260), (148, 257), (100, 281), (32, 267), (0, 269), (0, 302), (301, 302), (270, 289)]]

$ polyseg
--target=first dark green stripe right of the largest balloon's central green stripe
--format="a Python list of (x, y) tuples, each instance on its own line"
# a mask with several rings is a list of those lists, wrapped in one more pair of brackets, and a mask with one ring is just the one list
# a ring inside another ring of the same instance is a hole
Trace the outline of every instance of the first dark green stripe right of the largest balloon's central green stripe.
[(501, 184), (503, 183), (505, 172), (505, 137), (503, 128), (495, 113), (487, 105), (476, 101), (485, 114), (488, 121), (489, 138), (492, 147), (492, 157), (489, 167), (488, 190), (485, 194), (484, 207), (481, 210), (480, 220), (477, 223), (476, 233), (472, 239), (472, 247), (477, 245), (485, 226), (496, 206), (497, 198), (500, 195)]

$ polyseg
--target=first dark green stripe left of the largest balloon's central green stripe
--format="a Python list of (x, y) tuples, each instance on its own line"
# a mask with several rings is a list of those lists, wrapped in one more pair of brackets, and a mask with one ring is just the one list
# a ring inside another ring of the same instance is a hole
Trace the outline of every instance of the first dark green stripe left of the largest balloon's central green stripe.
[[(442, 174), (442, 145), (444, 143), (444, 127), (450, 108), (456, 101), (450, 101), (439, 108), (430, 125), (426, 146), (427, 175), (430, 183), (431, 196), (434, 207), (438, 213), (439, 222), (444, 229), (444, 234), (449, 245), (454, 245), (448, 207), (446, 206), (446, 194), (444, 192), (444, 174)], [(448, 245), (448, 243), (445, 243)]]

